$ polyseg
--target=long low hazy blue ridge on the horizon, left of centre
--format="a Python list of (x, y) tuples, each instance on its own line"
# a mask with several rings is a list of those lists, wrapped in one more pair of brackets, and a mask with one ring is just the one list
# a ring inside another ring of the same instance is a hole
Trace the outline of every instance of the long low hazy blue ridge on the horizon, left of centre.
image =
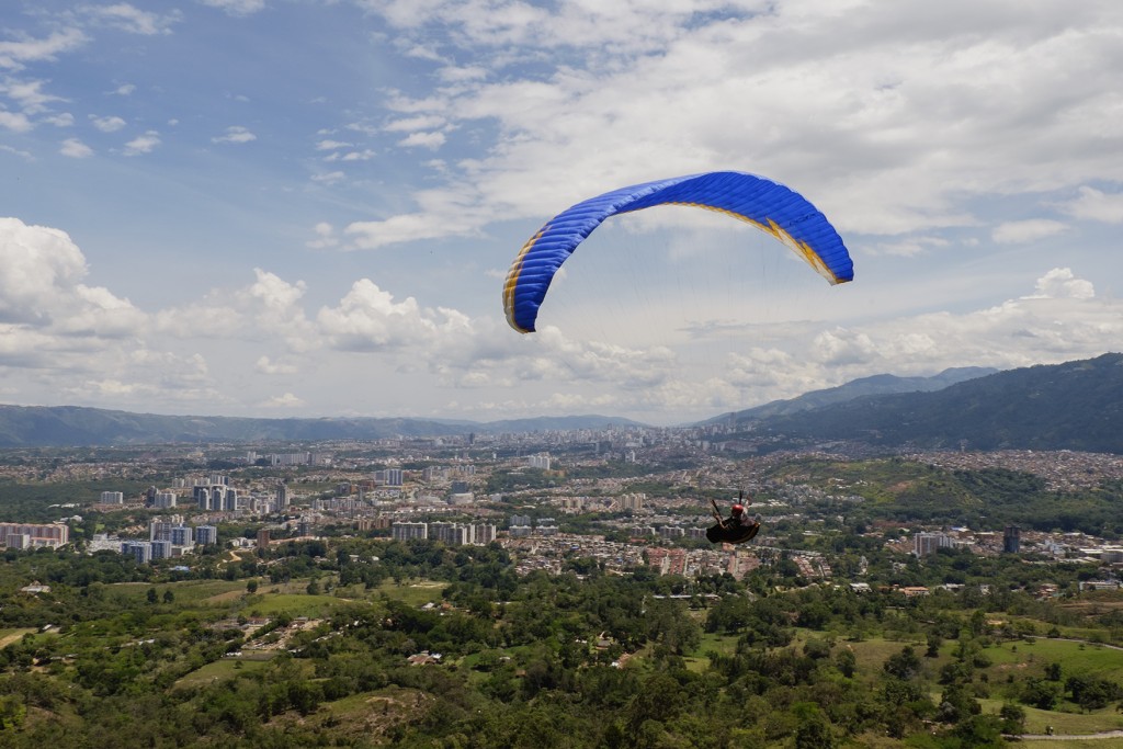
[(175, 417), (80, 407), (0, 405), (0, 448), (167, 442), (279, 442), (438, 437), (642, 426), (601, 415), (542, 417), (480, 423), (437, 419), (244, 419)]

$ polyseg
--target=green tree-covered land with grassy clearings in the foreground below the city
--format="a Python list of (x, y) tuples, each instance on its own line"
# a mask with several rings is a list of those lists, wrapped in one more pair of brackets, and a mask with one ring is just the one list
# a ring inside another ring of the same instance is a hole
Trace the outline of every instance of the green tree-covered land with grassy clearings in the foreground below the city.
[[(520, 577), (497, 546), (362, 538), (194, 578), (9, 551), (0, 746), (974, 747), (1066, 714), (1112, 724), (1123, 613), (1077, 594), (1092, 570), (823, 542), (884, 584), (809, 586), (783, 555), (741, 582), (579, 557)], [(20, 592), (29, 575), (49, 593)], [(1044, 581), (1062, 596), (1040, 600)]]

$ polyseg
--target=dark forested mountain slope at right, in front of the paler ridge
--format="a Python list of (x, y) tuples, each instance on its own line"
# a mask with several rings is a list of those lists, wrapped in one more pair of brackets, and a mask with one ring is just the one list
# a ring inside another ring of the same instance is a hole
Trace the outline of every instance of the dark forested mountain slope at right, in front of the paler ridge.
[(1123, 354), (998, 372), (935, 392), (866, 395), (740, 423), (763, 436), (885, 447), (1123, 454)]

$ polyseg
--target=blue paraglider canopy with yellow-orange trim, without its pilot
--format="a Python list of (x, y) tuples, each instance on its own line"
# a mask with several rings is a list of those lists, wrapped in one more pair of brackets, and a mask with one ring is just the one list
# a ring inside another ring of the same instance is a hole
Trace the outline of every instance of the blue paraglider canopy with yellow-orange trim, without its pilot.
[(538, 310), (566, 258), (605, 219), (656, 205), (692, 205), (724, 213), (768, 232), (831, 284), (853, 278), (853, 263), (834, 227), (803, 195), (743, 172), (706, 172), (621, 188), (565, 210), (532, 236), (503, 286), (506, 321), (533, 332)]

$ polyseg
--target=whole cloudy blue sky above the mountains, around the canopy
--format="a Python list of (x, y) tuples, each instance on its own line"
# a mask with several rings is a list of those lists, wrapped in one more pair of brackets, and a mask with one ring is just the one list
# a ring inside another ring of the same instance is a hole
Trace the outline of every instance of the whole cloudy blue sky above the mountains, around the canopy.
[[(1121, 350), (1116, 0), (4, 0), (0, 403), (668, 426), (874, 375)], [(629, 184), (538, 332), (506, 270)]]

